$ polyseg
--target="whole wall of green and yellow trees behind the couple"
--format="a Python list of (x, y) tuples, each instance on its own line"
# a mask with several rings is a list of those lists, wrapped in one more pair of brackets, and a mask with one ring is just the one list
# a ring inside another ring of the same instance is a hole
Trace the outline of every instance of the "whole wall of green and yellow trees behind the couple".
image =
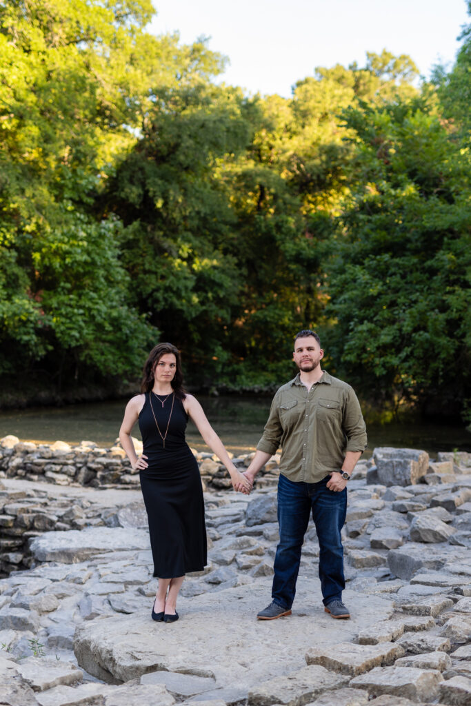
[[(471, 5), (470, 5), (471, 10)], [(0, 378), (268, 390), (292, 337), (374, 404), (470, 409), (470, 28), (455, 66), (216, 82), (148, 0), (0, 0)], [(471, 25), (470, 25), (471, 26)]]

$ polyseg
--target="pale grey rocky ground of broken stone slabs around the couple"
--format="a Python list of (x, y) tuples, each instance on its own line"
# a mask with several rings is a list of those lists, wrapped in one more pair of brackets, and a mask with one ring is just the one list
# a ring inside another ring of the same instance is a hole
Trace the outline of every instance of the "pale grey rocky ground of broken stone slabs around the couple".
[(273, 486), (205, 493), (208, 567), (167, 624), (150, 618), (140, 491), (5, 477), (3, 527), (30, 515), (64, 526), (33, 521), (31, 568), (0, 580), (0, 704), (470, 705), (471, 463), (422, 454), (378, 449), (349, 481), (348, 621), (323, 611), (314, 527), (292, 616), (256, 621), (278, 540)]

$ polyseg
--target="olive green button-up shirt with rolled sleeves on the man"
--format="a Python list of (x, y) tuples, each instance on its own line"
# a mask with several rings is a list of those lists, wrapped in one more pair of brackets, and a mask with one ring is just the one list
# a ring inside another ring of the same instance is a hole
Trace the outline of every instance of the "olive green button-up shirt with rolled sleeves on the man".
[(316, 483), (342, 467), (346, 451), (366, 448), (366, 427), (357, 395), (325, 371), (307, 390), (299, 373), (273, 397), (257, 449), (274, 454), (291, 481)]

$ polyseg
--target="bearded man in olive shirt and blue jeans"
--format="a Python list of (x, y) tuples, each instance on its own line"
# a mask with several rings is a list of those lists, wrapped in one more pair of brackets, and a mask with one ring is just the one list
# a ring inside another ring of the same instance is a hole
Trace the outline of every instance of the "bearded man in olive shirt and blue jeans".
[(275, 556), (272, 602), (259, 620), (291, 614), (304, 534), (312, 512), (319, 542), (319, 578), (324, 610), (350, 618), (342, 603), (342, 530), (347, 482), (366, 448), (366, 430), (357, 396), (347, 383), (321, 369), (321, 341), (311, 330), (294, 339), (299, 373), (278, 390), (270, 417), (245, 475), (251, 482), (282, 446), (278, 481), (280, 544)]

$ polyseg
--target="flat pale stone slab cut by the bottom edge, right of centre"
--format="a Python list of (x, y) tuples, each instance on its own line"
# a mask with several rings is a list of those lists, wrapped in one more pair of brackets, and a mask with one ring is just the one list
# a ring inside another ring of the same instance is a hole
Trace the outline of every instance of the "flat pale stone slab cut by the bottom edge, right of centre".
[(302, 706), (324, 691), (347, 686), (348, 677), (335, 674), (323, 666), (305, 666), (287, 676), (275, 676), (249, 691), (249, 706)]

